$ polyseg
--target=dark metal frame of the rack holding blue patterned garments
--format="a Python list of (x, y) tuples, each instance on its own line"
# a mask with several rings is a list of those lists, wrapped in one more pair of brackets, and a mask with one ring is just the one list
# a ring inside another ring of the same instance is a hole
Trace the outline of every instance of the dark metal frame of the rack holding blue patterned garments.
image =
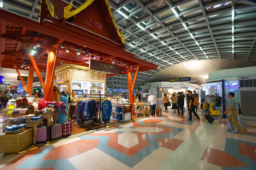
[(101, 118), (100, 118), (100, 116), (101, 116), (100, 115), (101, 101), (102, 101), (102, 98), (106, 98), (108, 96), (111, 97), (111, 94), (84, 94), (84, 95), (76, 95), (76, 96), (84, 96), (85, 98), (99, 98), (99, 112), (98, 112), (98, 114), (99, 114), (99, 126), (87, 125), (85, 123), (80, 124), (80, 125), (82, 125), (84, 127), (87, 127), (89, 129), (97, 129), (99, 127), (102, 127), (102, 125), (101, 125)]

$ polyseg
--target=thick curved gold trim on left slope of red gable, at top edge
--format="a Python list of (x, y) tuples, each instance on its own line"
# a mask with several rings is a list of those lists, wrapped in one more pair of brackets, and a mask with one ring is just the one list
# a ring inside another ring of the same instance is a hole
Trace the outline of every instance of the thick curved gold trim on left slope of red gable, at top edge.
[(89, 6), (91, 3), (93, 3), (94, 0), (87, 0), (85, 1), (85, 3), (83, 3), (81, 6), (79, 6), (78, 8), (76, 8), (74, 11), (70, 11), (70, 9), (73, 6), (73, 3), (71, 1), (71, 3), (64, 7), (64, 18), (69, 18), (72, 17), (76, 14), (78, 14), (79, 12), (81, 12), (82, 10), (84, 10), (85, 8), (87, 8), (87, 6)]

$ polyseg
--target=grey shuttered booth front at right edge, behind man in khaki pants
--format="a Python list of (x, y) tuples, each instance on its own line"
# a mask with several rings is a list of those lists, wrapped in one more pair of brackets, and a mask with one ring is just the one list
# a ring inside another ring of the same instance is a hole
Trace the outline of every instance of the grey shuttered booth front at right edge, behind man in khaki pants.
[(256, 75), (239, 76), (241, 122), (256, 123)]

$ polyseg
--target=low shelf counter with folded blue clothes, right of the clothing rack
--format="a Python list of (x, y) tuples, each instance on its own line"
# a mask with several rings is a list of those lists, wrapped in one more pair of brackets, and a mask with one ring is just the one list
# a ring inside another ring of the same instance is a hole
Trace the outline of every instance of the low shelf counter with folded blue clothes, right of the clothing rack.
[(112, 103), (111, 119), (125, 122), (132, 119), (132, 104)]

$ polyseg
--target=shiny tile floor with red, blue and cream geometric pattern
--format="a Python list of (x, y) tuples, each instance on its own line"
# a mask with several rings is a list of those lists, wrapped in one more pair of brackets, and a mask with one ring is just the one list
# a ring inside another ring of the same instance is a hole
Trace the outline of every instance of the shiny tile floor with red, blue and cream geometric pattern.
[[(164, 112), (163, 112), (164, 113)], [(256, 124), (229, 132), (227, 119), (145, 118), (0, 158), (1, 170), (255, 170)], [(0, 155), (1, 156), (1, 155)]]

